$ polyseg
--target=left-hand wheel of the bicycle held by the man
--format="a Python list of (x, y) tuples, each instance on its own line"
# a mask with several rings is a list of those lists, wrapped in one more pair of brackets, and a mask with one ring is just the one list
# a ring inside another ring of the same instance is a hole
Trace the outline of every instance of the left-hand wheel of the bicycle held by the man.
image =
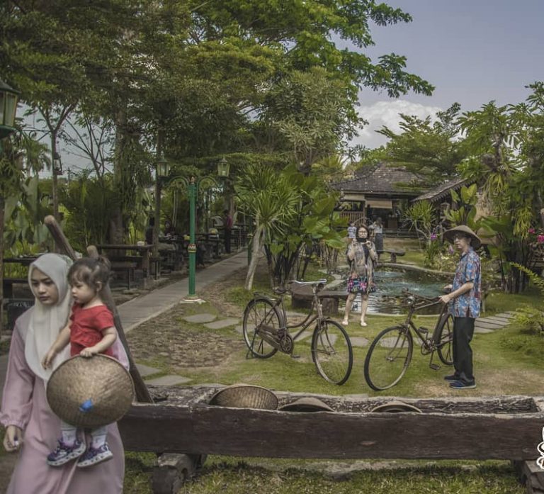
[(402, 326), (388, 327), (375, 337), (365, 358), (365, 380), (370, 388), (382, 391), (397, 384), (406, 373), (414, 341)]

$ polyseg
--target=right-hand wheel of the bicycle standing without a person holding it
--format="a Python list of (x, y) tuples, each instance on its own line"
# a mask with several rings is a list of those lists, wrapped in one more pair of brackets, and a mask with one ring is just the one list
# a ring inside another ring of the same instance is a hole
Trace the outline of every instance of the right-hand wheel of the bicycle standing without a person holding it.
[(344, 384), (353, 366), (353, 349), (344, 327), (332, 320), (317, 325), (312, 336), (312, 359), (322, 378)]

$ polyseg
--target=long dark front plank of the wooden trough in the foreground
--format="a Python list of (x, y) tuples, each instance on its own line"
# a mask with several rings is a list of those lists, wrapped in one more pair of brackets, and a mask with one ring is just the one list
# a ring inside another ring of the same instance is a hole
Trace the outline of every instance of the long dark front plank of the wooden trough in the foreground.
[(297, 413), (135, 405), (119, 422), (133, 451), (274, 458), (535, 459), (542, 413)]

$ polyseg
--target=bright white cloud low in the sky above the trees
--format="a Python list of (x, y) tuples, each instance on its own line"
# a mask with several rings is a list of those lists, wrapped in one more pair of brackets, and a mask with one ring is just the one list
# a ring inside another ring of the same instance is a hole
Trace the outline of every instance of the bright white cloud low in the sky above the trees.
[(404, 99), (395, 99), (393, 101), (378, 101), (372, 106), (359, 106), (358, 114), (361, 118), (368, 121), (363, 130), (359, 131), (358, 137), (355, 137), (351, 143), (361, 144), (372, 149), (387, 142), (387, 139), (375, 130), (387, 125), (393, 132), (400, 132), (399, 113), (414, 115), (419, 118), (431, 116), (433, 118), (437, 111), (443, 111), (439, 106), (425, 106), (421, 103), (412, 103)]

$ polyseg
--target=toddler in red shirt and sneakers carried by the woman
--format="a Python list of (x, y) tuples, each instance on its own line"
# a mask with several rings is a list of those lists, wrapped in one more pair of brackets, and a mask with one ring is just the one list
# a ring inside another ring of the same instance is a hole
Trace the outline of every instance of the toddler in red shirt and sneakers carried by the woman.
[[(47, 368), (55, 356), (70, 344), (70, 355), (92, 357), (95, 354), (106, 354), (118, 358), (112, 351), (117, 339), (117, 330), (113, 322), (113, 314), (101, 299), (101, 290), (110, 278), (108, 259), (99, 257), (78, 259), (68, 271), (68, 281), (72, 287), (72, 315), (70, 322), (64, 327), (42, 365)], [(47, 456), (50, 466), (61, 466), (79, 458), (77, 466), (84, 468), (109, 460), (113, 457), (106, 441), (106, 426), (91, 430), (91, 444), (86, 449), (84, 440), (79, 439), (77, 427), (61, 420), (62, 438), (55, 451)]]

